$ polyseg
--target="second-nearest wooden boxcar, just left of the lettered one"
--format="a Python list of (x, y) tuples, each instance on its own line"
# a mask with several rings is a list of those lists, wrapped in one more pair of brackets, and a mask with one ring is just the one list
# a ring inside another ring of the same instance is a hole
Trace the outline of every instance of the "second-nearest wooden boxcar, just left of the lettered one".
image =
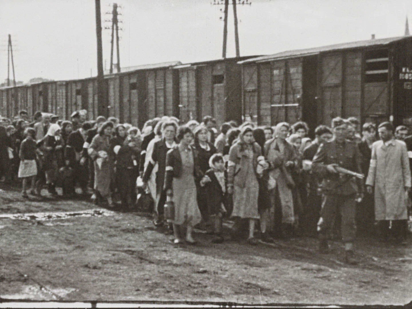
[(179, 109), (183, 122), (211, 115), (218, 125), (241, 121), (241, 68), (237, 61), (256, 56), (227, 58), (176, 66), (179, 73)]

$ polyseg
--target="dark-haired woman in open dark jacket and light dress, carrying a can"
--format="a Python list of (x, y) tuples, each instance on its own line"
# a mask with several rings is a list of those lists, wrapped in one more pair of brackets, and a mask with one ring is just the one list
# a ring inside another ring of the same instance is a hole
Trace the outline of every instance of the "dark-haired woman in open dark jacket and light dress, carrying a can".
[(178, 131), (179, 145), (169, 150), (166, 156), (165, 190), (173, 196), (175, 219), (173, 220), (174, 243), (180, 243), (180, 227), (187, 226), (186, 241), (195, 243), (193, 227), (201, 220), (197, 206), (196, 179), (199, 178), (195, 153), (190, 147), (193, 132), (187, 126)]

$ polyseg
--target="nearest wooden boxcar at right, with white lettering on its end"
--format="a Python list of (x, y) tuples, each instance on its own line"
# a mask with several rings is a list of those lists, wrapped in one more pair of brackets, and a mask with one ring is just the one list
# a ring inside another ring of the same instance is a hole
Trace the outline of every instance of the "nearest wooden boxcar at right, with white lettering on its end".
[(263, 125), (337, 116), (412, 124), (412, 37), (282, 52), (239, 61), (242, 115)]

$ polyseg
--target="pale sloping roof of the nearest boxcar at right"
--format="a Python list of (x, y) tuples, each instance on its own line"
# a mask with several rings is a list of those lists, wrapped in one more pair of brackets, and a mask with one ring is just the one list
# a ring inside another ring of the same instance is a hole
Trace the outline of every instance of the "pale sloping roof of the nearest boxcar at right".
[[(410, 36), (407, 36), (410, 37)], [(365, 41), (357, 41), (357, 42), (349, 42), (349, 43), (341, 43), (341, 44), (334, 44), (334, 45), (327, 45), (322, 47), (313, 47), (307, 49), (295, 49), (286, 52), (281, 52), (273, 55), (268, 56), (261, 56), (257, 58), (247, 59), (243, 61), (239, 61), (239, 64), (242, 63), (253, 63), (253, 62), (265, 62), (265, 61), (272, 61), (276, 59), (286, 59), (286, 58), (294, 58), (299, 56), (310, 56), (316, 55), (321, 52), (330, 52), (334, 50), (342, 50), (342, 49), (356, 49), (362, 47), (370, 47), (370, 46), (377, 46), (377, 45), (386, 45), (392, 42), (400, 41), (405, 38), (403, 37), (388, 37), (385, 39), (372, 39), (372, 40), (365, 40)]]

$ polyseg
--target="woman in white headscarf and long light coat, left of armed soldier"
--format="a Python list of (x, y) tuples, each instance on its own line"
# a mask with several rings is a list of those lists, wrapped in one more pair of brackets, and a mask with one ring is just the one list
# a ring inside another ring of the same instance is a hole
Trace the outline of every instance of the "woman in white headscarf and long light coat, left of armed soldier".
[(287, 122), (277, 124), (275, 138), (265, 144), (265, 154), (270, 164), (269, 178), (276, 180), (276, 187), (270, 195), (275, 206), (272, 230), (277, 238), (290, 235), (295, 223), (292, 193), (295, 182), (291, 173), (298, 166), (298, 161), (294, 147), (286, 141), (289, 130)]

